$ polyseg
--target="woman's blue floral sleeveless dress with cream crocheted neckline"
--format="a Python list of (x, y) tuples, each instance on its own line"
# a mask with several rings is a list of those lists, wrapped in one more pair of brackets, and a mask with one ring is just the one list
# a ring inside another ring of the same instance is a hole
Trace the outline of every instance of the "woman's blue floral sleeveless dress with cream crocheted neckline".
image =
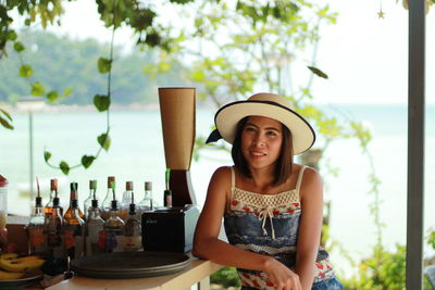
[[(266, 254), (290, 269), (296, 265), (296, 244), (301, 205), (299, 188), (304, 166), (299, 171), (296, 188), (278, 194), (261, 194), (235, 187), (232, 171), (231, 199), (224, 215), (224, 227), (228, 242), (235, 247)], [(343, 289), (336, 279), (328, 253), (320, 248), (315, 260), (312, 289)], [(275, 289), (263, 272), (237, 269), (241, 289)]]

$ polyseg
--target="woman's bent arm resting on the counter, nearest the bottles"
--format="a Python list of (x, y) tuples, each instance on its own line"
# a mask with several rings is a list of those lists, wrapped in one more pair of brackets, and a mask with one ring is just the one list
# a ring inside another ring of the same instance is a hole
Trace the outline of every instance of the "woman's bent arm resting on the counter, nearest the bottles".
[(217, 239), (229, 185), (229, 167), (219, 168), (210, 180), (206, 203), (197, 223), (192, 254), (225, 266), (262, 270), (276, 289), (300, 290), (298, 276), (275, 259), (240, 250)]

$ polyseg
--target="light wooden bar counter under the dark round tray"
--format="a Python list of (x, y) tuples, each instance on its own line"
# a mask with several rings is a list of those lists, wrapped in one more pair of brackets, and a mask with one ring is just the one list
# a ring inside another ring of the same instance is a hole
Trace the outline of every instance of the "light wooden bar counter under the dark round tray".
[(210, 289), (209, 276), (223, 266), (206, 260), (192, 257), (189, 265), (182, 272), (139, 279), (97, 279), (87, 277), (74, 277), (49, 290), (186, 290), (198, 283), (198, 290)]

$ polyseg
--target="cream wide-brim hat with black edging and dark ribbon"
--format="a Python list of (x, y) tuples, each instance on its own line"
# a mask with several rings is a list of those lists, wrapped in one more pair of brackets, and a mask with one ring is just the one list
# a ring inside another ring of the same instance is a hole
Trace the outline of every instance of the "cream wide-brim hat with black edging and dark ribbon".
[(275, 93), (260, 92), (245, 101), (236, 101), (222, 106), (214, 116), (216, 129), (212, 131), (206, 143), (223, 138), (233, 143), (237, 124), (247, 116), (264, 116), (281, 122), (291, 131), (294, 154), (309, 150), (315, 134), (311, 125), (296, 113), (287, 99)]

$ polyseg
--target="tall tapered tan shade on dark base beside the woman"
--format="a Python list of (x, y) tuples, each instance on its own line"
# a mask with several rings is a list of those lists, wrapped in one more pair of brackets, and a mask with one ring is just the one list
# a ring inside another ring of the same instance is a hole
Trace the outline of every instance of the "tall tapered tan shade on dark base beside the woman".
[(195, 88), (159, 88), (166, 167), (190, 169), (195, 143)]

